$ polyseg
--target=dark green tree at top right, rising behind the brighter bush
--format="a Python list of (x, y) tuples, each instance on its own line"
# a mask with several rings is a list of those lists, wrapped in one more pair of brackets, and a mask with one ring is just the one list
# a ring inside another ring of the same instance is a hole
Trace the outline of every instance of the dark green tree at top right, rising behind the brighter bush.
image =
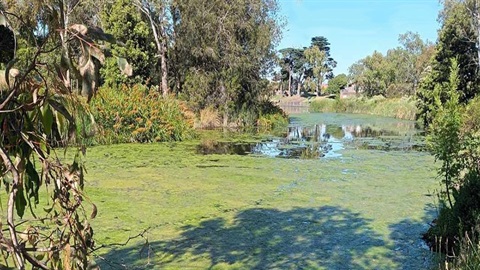
[[(451, 59), (458, 62), (459, 101), (466, 103), (480, 91), (478, 0), (446, 0), (440, 14), (442, 24), (439, 30), (435, 53), (427, 76), (417, 92), (419, 118), (429, 125), (436, 108), (435, 89), (448, 84)], [(438, 92), (438, 91), (437, 91)], [(444, 103), (449, 95), (438, 94)]]

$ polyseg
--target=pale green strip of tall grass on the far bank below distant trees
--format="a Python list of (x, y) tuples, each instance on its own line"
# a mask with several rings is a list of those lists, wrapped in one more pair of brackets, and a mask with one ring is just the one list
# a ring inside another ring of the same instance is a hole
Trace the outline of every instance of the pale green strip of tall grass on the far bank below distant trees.
[(337, 112), (372, 114), (385, 117), (394, 117), (405, 120), (415, 120), (415, 99), (392, 98), (381, 96), (373, 98), (347, 99), (317, 99), (310, 103), (310, 112)]

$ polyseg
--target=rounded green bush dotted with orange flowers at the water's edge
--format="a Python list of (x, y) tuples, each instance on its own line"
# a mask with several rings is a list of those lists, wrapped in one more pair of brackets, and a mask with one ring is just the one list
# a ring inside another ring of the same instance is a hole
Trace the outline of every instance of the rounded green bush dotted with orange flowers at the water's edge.
[(102, 88), (91, 103), (98, 143), (181, 141), (191, 138), (193, 113), (141, 85)]

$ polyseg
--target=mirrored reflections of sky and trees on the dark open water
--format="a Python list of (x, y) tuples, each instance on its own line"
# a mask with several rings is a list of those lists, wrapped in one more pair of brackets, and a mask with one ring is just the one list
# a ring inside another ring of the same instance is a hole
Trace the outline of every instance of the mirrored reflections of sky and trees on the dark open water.
[[(366, 124), (295, 123), (284, 137), (259, 143), (215, 142), (197, 147), (200, 154), (262, 155), (279, 158), (338, 158), (341, 150), (371, 149), (383, 151), (422, 150), (423, 137), (418, 135), (413, 122), (396, 123), (396, 128), (379, 128)], [(398, 126), (400, 125), (400, 126)]]

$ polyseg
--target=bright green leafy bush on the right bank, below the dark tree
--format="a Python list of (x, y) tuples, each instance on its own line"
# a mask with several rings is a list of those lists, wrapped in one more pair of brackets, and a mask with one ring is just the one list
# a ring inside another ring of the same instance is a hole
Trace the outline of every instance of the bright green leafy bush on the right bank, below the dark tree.
[[(441, 94), (449, 96), (443, 104)], [(480, 125), (478, 118), (472, 118), (480, 115), (479, 101), (476, 98), (465, 108), (459, 103), (455, 60), (450, 82), (437, 86), (434, 98), (438, 108), (427, 142), (436, 160), (441, 161), (438, 176), (445, 190), (440, 193), (444, 203), (437, 224), (426, 236), (430, 243), (433, 239), (438, 242), (439, 250), (453, 255), (454, 266), (470, 269), (470, 263), (480, 261), (478, 242), (471, 242), (478, 241), (480, 231)], [(449, 262), (446, 264), (448, 267)]]

